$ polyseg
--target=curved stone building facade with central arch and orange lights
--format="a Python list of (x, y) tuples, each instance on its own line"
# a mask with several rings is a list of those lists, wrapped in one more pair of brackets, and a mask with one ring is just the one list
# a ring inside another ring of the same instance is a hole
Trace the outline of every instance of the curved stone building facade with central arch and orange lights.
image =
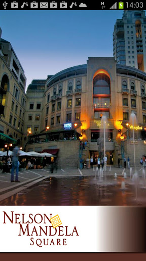
[[(97, 139), (105, 115), (108, 163), (117, 165), (119, 155), (121, 158), (129, 155), (132, 164), (130, 114), (134, 112), (139, 163), (145, 152), (145, 83), (143, 71), (116, 65), (114, 58), (95, 57), (89, 58), (85, 65), (48, 75), (46, 81), (33, 80), (27, 88), (23, 146), (27, 151), (58, 153), (59, 164), (64, 167), (78, 167), (80, 158), (86, 159), (87, 155), (89, 158), (93, 155), (96, 163)], [(87, 140), (83, 151), (81, 137), (83, 142)]]

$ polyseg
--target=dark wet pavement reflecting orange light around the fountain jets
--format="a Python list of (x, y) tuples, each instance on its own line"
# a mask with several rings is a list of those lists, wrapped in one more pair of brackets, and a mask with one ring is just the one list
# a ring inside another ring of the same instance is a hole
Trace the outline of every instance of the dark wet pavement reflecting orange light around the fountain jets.
[[(122, 181), (124, 185), (122, 186)], [(146, 189), (143, 180), (137, 189), (132, 180), (122, 176), (106, 177), (100, 182), (95, 176), (47, 177), (5, 200), (0, 205), (144, 205)]]

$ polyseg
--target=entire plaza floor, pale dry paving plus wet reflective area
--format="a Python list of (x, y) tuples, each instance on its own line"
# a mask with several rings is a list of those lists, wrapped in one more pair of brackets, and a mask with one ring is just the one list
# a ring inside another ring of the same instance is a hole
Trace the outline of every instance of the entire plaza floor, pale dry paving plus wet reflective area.
[[(47, 168), (20, 171), (20, 183), (10, 182), (11, 173), (2, 173), (0, 205), (146, 205), (145, 189), (139, 189), (139, 197), (135, 199), (133, 183), (129, 179), (130, 169), (125, 169), (127, 178), (124, 179), (124, 169), (107, 166), (106, 182), (104, 176), (102, 181), (99, 181), (98, 174), (95, 177), (95, 170), (96, 166), (88, 170), (64, 168), (53, 173)], [(139, 164), (137, 172), (141, 188), (144, 186), (142, 170)], [(114, 178), (115, 173), (117, 179)], [(122, 181), (125, 190), (122, 190)]]

